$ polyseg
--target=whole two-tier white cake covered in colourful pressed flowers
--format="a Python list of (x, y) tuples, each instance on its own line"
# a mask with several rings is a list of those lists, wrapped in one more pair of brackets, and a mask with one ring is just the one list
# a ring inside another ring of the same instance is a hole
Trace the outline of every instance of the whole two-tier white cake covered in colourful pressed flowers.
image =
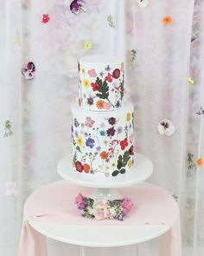
[(78, 68), (80, 96), (72, 107), (74, 170), (125, 174), (134, 163), (134, 108), (124, 102), (124, 62), (117, 56), (85, 56)]

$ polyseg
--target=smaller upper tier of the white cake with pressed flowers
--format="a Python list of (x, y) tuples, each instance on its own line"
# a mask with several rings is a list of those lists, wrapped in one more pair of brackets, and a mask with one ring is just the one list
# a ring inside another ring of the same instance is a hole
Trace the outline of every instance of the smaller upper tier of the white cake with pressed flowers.
[(84, 56), (79, 60), (80, 105), (93, 111), (122, 106), (124, 62), (118, 56)]

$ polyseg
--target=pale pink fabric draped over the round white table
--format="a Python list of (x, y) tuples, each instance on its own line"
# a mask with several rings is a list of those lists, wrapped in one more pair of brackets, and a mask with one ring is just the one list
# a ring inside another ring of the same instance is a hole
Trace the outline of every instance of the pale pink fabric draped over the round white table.
[(118, 191), (136, 202), (124, 221), (89, 220), (80, 216), (74, 198), (78, 193), (89, 195), (92, 188), (74, 186), (66, 181), (40, 187), (25, 203), (18, 256), (47, 255), (46, 238), (29, 226), (29, 220), (86, 226), (167, 224), (171, 230), (161, 239), (160, 256), (181, 256), (180, 214), (173, 197), (163, 188), (151, 184), (120, 188)]

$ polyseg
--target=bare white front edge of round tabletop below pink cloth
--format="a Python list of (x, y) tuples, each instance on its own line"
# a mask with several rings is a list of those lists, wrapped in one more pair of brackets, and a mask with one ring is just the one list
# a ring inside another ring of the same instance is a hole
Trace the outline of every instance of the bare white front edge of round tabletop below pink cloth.
[[(125, 220), (124, 220), (125, 221)], [(80, 226), (29, 220), (29, 225), (45, 236), (77, 246), (129, 246), (155, 239), (169, 231), (167, 225)]]

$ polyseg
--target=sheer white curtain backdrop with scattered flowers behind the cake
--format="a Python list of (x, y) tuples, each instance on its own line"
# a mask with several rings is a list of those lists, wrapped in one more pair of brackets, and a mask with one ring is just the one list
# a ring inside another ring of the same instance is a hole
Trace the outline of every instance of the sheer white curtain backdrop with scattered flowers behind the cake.
[[(202, 255), (204, 1), (149, 0), (142, 8), (137, 0), (85, 0), (86, 12), (76, 15), (71, 2), (0, 1), (0, 254), (16, 255), (29, 194), (60, 179), (56, 166), (70, 149), (78, 57), (114, 53), (126, 57), (137, 152), (154, 163), (150, 181), (180, 204), (184, 255)], [(28, 62), (35, 64), (32, 80), (29, 71), (22, 75)], [(163, 119), (175, 133), (159, 133)], [(67, 255), (66, 245), (50, 246)], [(68, 250), (79, 253), (75, 246)], [(114, 253), (133, 255), (134, 248)]]

